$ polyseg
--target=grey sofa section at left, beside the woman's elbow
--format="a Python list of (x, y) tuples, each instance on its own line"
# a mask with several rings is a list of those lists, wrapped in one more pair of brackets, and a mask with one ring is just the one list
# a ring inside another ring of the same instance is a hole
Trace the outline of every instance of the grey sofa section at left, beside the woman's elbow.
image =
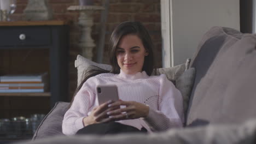
[(62, 133), (62, 120), (68, 110), (68, 105), (69, 103), (66, 102), (57, 102), (38, 126), (32, 140), (55, 135), (64, 135)]

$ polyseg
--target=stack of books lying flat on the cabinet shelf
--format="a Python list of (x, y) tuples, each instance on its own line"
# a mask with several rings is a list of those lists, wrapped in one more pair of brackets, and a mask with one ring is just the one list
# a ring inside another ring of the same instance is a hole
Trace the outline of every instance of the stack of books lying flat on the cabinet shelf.
[(47, 73), (0, 76), (0, 93), (40, 93), (48, 90)]

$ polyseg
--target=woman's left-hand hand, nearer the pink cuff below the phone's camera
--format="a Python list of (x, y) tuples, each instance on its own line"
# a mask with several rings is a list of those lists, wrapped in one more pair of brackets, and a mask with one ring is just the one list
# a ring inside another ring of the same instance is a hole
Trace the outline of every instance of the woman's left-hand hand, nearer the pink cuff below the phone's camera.
[(111, 118), (108, 117), (107, 112), (119, 109), (119, 107), (118, 106), (108, 107), (108, 105), (112, 103), (113, 101), (109, 100), (106, 103), (103, 103), (99, 106), (94, 107), (90, 115), (83, 119), (84, 127), (94, 123), (104, 123), (104, 122), (113, 121)]

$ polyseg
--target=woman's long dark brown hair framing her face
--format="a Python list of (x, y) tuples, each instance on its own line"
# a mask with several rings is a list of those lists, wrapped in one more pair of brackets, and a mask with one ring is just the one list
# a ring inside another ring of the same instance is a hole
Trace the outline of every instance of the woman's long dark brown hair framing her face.
[(117, 27), (115, 27), (109, 41), (108, 54), (109, 54), (109, 63), (112, 66), (112, 70), (108, 71), (95, 66), (92, 66), (88, 70), (86, 70), (83, 76), (84, 79), (75, 90), (75, 93), (73, 95), (73, 98), (71, 100), (69, 107), (72, 105), (74, 97), (79, 91), (79, 89), (83, 86), (84, 82), (88, 80), (90, 77), (96, 76), (102, 73), (113, 73), (113, 74), (120, 73), (120, 67), (118, 65), (117, 57), (116, 57), (117, 46), (119, 45), (119, 41), (121, 40), (121, 38), (129, 34), (137, 35), (141, 39), (143, 46), (148, 52), (148, 56), (144, 57), (145, 59), (144, 59), (142, 71), (146, 71), (147, 75), (149, 76), (152, 75), (153, 69), (154, 69), (153, 43), (146, 27), (144, 27), (141, 22), (132, 22), (132, 21), (122, 22)]

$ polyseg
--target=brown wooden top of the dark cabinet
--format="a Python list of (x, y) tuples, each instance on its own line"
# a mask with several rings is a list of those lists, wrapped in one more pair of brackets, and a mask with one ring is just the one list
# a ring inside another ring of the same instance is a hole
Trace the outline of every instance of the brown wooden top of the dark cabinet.
[(69, 21), (1, 21), (0, 26), (61, 26), (70, 25)]

